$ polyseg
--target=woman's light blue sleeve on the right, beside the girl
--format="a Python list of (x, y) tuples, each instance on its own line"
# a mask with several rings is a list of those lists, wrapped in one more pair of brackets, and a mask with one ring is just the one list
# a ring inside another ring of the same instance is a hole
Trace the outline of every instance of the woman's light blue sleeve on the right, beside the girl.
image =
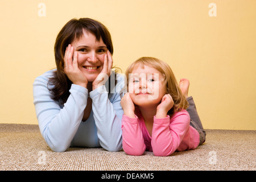
[[(119, 82), (115, 88), (121, 87), (121, 84), (122, 82)], [(108, 94), (105, 85), (102, 85), (90, 92), (100, 145), (108, 151), (122, 150), (121, 119), (123, 110), (120, 104), (120, 90), (116, 89), (114, 93)]]

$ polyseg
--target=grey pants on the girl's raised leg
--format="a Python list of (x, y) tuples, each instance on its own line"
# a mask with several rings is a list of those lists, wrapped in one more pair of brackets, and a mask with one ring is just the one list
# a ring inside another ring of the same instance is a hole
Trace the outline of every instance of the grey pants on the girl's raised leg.
[(199, 144), (203, 144), (205, 142), (205, 136), (206, 136), (206, 133), (205, 133), (205, 130), (203, 128), (203, 125), (201, 123), (201, 120), (199, 118), (199, 115), (197, 113), (197, 110), (196, 110), (196, 105), (195, 105), (195, 102), (193, 100), (193, 97), (190, 96), (187, 98), (187, 101), (188, 101), (188, 108), (187, 108), (187, 111), (190, 115), (190, 125), (195, 128), (198, 133), (199, 133), (199, 136), (200, 136), (200, 143)]

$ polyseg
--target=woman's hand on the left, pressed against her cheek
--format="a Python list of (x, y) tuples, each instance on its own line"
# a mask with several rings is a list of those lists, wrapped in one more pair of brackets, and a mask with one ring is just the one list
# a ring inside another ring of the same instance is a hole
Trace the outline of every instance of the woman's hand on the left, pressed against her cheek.
[(73, 84), (87, 88), (88, 80), (78, 67), (78, 53), (74, 51), (71, 44), (68, 45), (64, 56), (64, 72)]

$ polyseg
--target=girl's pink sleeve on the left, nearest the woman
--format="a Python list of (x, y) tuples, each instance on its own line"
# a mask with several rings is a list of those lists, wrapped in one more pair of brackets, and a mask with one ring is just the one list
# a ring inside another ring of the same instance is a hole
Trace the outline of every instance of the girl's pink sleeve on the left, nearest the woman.
[(138, 117), (122, 117), (123, 151), (128, 155), (142, 155), (146, 150)]

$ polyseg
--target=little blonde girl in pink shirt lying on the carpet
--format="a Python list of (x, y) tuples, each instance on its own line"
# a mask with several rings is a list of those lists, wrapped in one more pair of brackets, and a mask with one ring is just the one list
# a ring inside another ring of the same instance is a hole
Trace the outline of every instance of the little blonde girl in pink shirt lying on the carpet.
[[(180, 80), (179, 86), (168, 64), (154, 57), (135, 61), (126, 76), (128, 92), (121, 100), (126, 154), (142, 155), (147, 150), (168, 156), (204, 143), (205, 131), (193, 99), (185, 98), (188, 80)], [(195, 121), (190, 119), (187, 107)]]

